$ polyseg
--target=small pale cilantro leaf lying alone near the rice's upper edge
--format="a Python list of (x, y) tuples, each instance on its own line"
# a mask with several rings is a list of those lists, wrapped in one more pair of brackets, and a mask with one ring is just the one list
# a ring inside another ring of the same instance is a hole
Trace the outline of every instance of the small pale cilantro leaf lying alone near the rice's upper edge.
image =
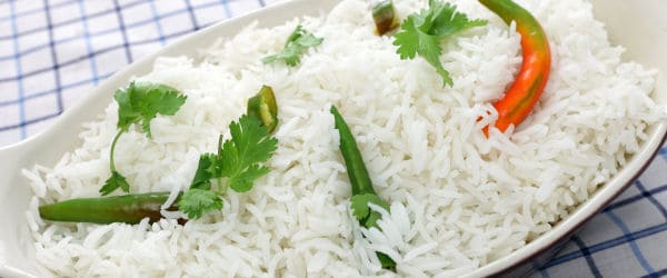
[(299, 56), (306, 52), (308, 48), (319, 46), (322, 43), (322, 38), (317, 38), (303, 30), (301, 26), (297, 26), (295, 31), (287, 38), (282, 52), (265, 57), (261, 61), (263, 63), (271, 63), (282, 60), (287, 66), (295, 67), (301, 62)]

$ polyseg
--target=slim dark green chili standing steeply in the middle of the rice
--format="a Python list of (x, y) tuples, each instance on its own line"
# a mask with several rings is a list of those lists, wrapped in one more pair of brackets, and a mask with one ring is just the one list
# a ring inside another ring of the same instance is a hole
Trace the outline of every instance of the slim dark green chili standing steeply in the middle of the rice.
[[(387, 210), (389, 210), (389, 205), (380, 199), (372, 188), (372, 182), (368, 176), (368, 170), (366, 169), (355, 137), (335, 106), (331, 106), (331, 113), (334, 115), (335, 127), (340, 133), (340, 155), (342, 155), (342, 159), (345, 160), (352, 189), (351, 206), (357, 207), (359, 210), (365, 210), (365, 214), (359, 215), (359, 211), (355, 211), (355, 215), (361, 226), (380, 229), (377, 221), (382, 216), (375, 210), (369, 210), (368, 203), (375, 203)], [(389, 256), (382, 252), (376, 252), (376, 255), (382, 268), (396, 270), (396, 262)]]

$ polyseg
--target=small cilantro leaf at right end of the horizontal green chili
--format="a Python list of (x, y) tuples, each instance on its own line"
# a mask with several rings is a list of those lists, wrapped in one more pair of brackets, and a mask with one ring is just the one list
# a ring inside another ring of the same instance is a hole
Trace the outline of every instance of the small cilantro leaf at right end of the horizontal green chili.
[(203, 214), (222, 209), (222, 200), (210, 190), (190, 188), (178, 201), (178, 209), (190, 219), (200, 218)]

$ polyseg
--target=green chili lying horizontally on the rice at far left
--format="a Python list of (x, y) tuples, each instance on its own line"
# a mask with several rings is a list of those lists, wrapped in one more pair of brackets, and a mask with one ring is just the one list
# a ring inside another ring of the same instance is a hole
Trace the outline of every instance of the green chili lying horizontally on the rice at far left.
[[(180, 195), (179, 195), (180, 197)], [(160, 220), (160, 206), (169, 192), (82, 198), (39, 207), (41, 218), (52, 221), (138, 224), (143, 218)], [(167, 210), (178, 210), (178, 198)]]

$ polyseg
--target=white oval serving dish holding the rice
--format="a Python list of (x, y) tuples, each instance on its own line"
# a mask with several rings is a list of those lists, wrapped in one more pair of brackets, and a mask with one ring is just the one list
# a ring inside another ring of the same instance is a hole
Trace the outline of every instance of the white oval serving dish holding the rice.
[[(34, 163), (53, 165), (68, 150), (80, 143), (78, 138), (81, 123), (94, 120), (96, 116), (111, 102), (117, 88), (125, 87), (132, 76), (149, 72), (158, 56), (191, 56), (198, 49), (211, 44), (221, 37), (232, 37), (252, 21), (270, 27), (301, 16), (317, 16), (330, 10), (337, 0), (293, 0), (275, 4), (259, 11), (211, 26), (132, 63), (87, 93), (76, 107), (64, 111), (56, 122), (43, 132), (13, 146), (0, 149), (0, 277), (37, 277), (34, 250), (29, 236), (26, 211), (31, 191), (20, 170)], [(593, 0), (596, 17), (607, 24), (614, 43), (628, 49), (626, 59), (633, 59), (645, 66), (660, 70), (654, 99), (667, 103), (667, 1), (660, 0)], [(650, 128), (649, 139), (641, 146), (630, 162), (609, 182), (603, 186), (588, 201), (580, 205), (567, 219), (552, 230), (531, 241), (510, 256), (498, 259), (472, 272), (482, 277), (499, 274), (520, 265), (530, 258), (550, 249), (556, 242), (574, 232), (619, 195), (650, 162), (661, 146), (667, 123)]]

